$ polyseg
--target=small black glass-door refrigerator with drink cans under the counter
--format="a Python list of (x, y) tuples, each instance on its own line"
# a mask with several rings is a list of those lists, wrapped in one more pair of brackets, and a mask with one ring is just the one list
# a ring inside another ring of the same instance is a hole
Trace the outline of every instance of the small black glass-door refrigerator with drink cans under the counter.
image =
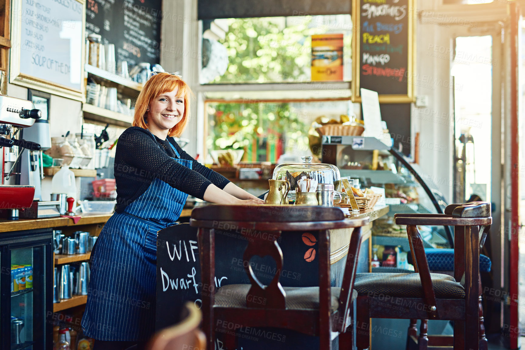
[(1, 349), (53, 348), (52, 244), (52, 229), (0, 233)]

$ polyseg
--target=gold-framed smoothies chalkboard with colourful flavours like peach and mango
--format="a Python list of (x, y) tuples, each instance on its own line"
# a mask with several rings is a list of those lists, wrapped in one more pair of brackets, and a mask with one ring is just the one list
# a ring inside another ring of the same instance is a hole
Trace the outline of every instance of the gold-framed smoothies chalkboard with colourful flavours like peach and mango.
[(377, 91), (380, 102), (412, 102), (412, 0), (358, 0), (353, 20), (354, 100), (364, 88)]

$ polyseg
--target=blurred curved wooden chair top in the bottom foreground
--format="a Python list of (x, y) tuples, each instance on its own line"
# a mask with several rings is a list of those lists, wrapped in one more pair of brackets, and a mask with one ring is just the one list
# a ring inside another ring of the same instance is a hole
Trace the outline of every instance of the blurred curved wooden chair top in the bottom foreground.
[[(199, 330), (202, 314), (194, 302), (184, 306), (183, 320), (156, 333), (148, 343), (149, 350), (206, 350), (206, 336)], [(213, 347), (211, 347), (213, 349)]]

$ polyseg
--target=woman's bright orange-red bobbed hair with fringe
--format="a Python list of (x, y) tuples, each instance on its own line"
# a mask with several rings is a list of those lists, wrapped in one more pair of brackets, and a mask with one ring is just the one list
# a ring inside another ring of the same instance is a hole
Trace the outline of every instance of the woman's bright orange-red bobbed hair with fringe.
[(148, 111), (146, 110), (151, 101), (161, 94), (174, 91), (175, 89), (178, 89), (177, 94), (179, 96), (184, 96), (184, 114), (182, 115), (181, 121), (173, 126), (167, 135), (180, 136), (190, 119), (190, 94), (193, 94), (193, 92), (181, 77), (170, 73), (158, 73), (146, 81), (144, 88), (139, 93), (137, 102), (135, 102), (135, 115), (133, 116), (133, 123), (131, 125), (148, 129), (145, 119), (148, 115)]

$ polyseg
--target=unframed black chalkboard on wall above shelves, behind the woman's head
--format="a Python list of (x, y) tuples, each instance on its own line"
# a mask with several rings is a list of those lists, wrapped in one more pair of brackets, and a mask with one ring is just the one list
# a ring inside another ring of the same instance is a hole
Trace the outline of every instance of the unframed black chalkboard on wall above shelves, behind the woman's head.
[(86, 31), (115, 45), (117, 64), (160, 61), (162, 0), (87, 0)]

